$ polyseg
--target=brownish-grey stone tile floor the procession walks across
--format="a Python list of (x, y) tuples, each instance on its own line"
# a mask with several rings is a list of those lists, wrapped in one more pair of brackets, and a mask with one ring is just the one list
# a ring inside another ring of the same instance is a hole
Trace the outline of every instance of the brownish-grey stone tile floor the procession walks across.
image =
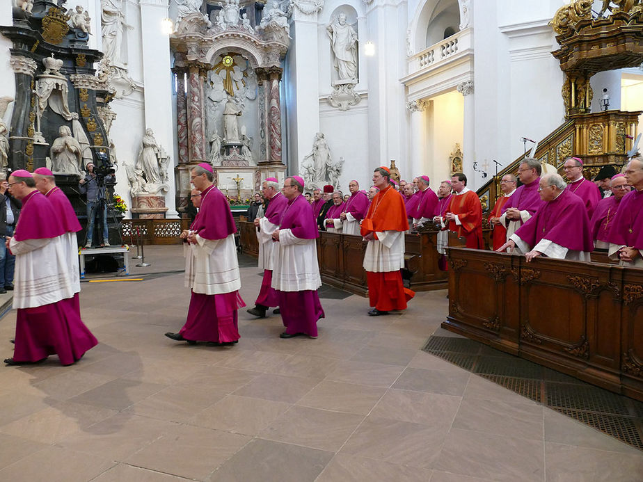
[[(449, 335), (445, 291), (379, 318), (324, 298), (318, 339), (242, 311), (237, 346), (188, 346), (163, 336), (189, 301), (167, 273), (181, 247), (146, 255), (134, 273), (166, 274), (83, 284), (101, 343), (81, 362), (0, 367), (0, 481), (643, 480), (643, 452), (420, 351)], [(252, 305), (261, 277), (241, 273)]]

